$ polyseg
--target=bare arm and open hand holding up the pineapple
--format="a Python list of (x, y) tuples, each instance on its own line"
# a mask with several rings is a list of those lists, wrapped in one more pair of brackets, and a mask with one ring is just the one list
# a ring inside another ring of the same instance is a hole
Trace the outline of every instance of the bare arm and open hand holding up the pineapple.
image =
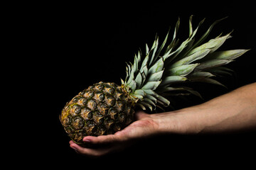
[(73, 141), (70, 141), (70, 147), (85, 156), (100, 157), (120, 151), (139, 139), (161, 133), (186, 135), (255, 129), (256, 83), (242, 86), (198, 106), (156, 114), (138, 111), (135, 118), (134, 123), (114, 135), (84, 137), (85, 143), (100, 147), (80, 147)]

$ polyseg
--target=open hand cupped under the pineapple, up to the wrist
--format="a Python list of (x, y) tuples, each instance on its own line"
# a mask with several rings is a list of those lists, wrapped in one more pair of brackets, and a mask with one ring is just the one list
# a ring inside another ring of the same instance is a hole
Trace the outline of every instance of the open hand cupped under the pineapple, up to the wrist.
[(151, 115), (138, 111), (134, 114), (135, 121), (124, 130), (114, 135), (102, 135), (98, 137), (87, 136), (83, 138), (85, 144), (93, 147), (81, 147), (70, 141), (70, 147), (76, 152), (89, 157), (100, 157), (102, 155), (117, 152), (132, 144), (132, 142), (144, 137), (149, 137), (157, 132), (158, 124)]

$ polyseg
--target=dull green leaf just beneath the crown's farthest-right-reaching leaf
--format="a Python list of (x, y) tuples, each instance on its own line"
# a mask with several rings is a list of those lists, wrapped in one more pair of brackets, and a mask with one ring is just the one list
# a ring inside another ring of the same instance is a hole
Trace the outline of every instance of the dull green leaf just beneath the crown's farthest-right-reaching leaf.
[(232, 62), (232, 60), (208, 60), (206, 62), (202, 62), (200, 65), (198, 65), (198, 67), (196, 67), (196, 70), (203, 70), (203, 69), (210, 69), (213, 67), (218, 67), (221, 65), (225, 65)]

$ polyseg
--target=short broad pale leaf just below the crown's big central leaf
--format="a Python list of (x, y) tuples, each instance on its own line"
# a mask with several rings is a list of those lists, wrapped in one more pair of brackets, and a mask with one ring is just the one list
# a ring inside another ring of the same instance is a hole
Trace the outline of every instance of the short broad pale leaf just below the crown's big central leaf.
[(178, 67), (174, 67), (172, 69), (169, 69), (166, 74), (170, 76), (181, 76), (185, 77), (186, 75), (190, 74), (193, 72), (193, 69), (195, 69), (198, 66), (198, 63), (196, 64), (186, 64), (186, 65), (181, 65)]

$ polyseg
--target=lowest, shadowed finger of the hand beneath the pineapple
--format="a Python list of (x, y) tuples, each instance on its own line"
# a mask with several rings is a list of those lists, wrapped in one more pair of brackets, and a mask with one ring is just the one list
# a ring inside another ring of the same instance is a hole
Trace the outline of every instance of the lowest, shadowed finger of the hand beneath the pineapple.
[(70, 141), (70, 147), (75, 149), (76, 152), (88, 157), (100, 157), (112, 151), (112, 147), (100, 148), (100, 149), (80, 147), (79, 145), (75, 144), (75, 142), (73, 141)]

